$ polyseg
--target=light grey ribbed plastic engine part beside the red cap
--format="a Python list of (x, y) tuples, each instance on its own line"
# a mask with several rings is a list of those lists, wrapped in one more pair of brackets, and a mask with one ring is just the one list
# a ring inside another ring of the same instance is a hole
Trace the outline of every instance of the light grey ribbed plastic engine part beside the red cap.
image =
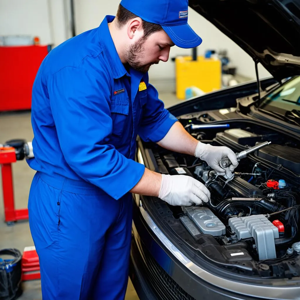
[(279, 238), (278, 228), (263, 214), (248, 217), (233, 217), (228, 221), (238, 240), (253, 237), (259, 260), (276, 258), (275, 238)]

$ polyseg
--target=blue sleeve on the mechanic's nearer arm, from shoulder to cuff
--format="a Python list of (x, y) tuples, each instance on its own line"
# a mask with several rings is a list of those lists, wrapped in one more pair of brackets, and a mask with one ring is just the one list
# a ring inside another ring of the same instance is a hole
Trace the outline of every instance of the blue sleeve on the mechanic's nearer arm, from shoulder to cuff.
[(113, 123), (106, 77), (105, 72), (94, 76), (84, 69), (64, 67), (49, 76), (47, 88), (67, 164), (82, 179), (119, 199), (139, 182), (145, 166), (109, 143)]

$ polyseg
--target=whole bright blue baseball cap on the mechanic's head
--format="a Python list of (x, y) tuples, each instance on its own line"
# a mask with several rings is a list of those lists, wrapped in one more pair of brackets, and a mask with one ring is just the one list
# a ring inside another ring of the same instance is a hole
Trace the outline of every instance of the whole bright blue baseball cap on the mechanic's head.
[(187, 24), (188, 0), (122, 0), (120, 4), (144, 21), (161, 25), (180, 48), (193, 48), (202, 43)]

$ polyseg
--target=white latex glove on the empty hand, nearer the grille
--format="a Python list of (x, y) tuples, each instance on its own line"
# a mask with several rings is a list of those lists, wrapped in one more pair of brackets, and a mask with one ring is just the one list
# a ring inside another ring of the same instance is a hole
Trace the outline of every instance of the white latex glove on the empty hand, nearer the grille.
[(208, 202), (209, 190), (198, 180), (186, 175), (161, 175), (159, 198), (170, 205), (190, 206)]

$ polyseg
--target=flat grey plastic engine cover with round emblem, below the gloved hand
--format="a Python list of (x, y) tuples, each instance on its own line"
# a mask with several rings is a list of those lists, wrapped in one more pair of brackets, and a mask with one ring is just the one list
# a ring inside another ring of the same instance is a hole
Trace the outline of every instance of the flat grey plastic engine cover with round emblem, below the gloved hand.
[(206, 207), (190, 206), (182, 207), (184, 213), (186, 213), (198, 226), (204, 234), (210, 234), (212, 236), (220, 236), (225, 234), (226, 227), (218, 219), (213, 212)]

